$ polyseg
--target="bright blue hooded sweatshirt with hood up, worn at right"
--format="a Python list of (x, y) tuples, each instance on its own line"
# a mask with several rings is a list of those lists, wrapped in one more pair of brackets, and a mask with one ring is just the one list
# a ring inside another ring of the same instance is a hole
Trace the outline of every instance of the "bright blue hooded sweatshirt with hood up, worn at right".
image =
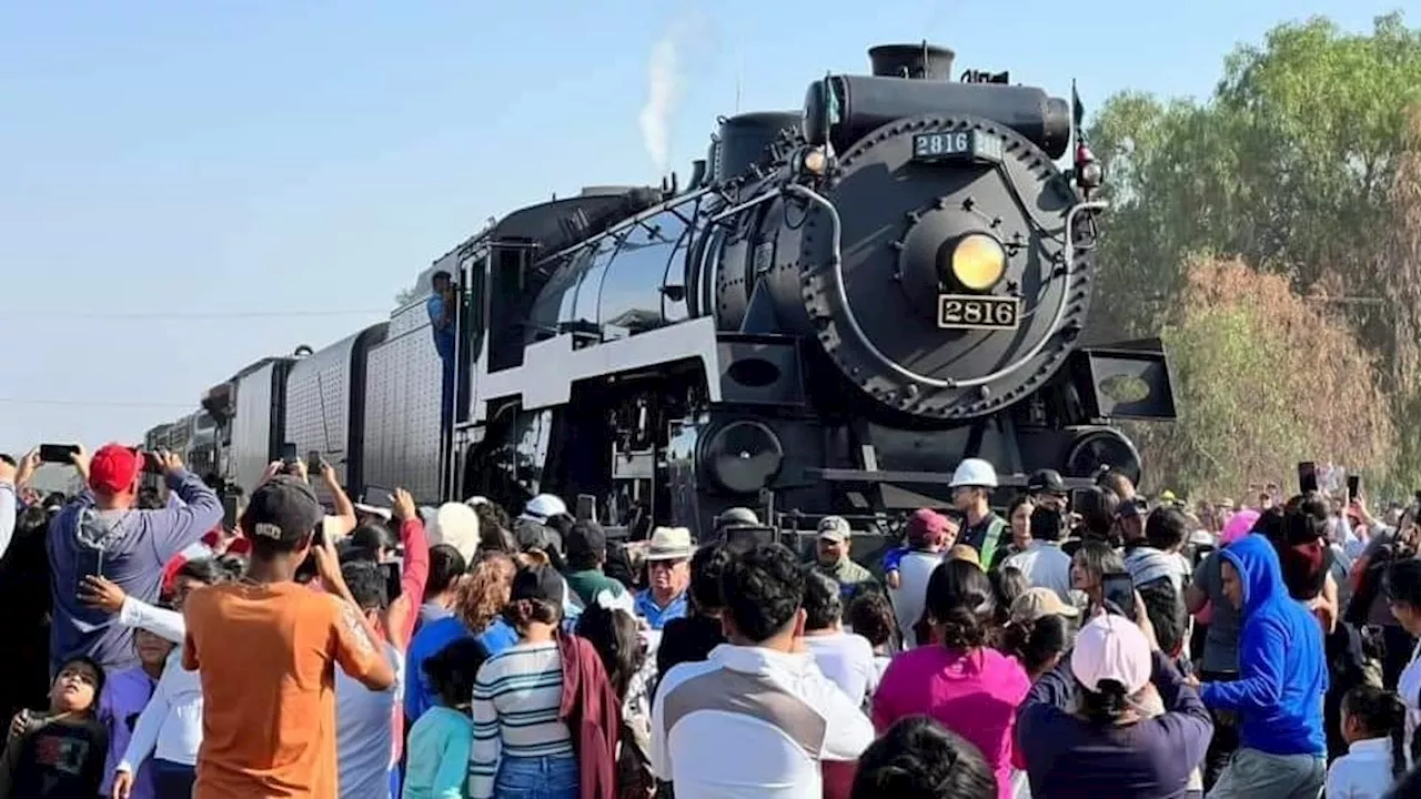
[(1266, 537), (1243, 536), (1219, 556), (1243, 583), (1239, 678), (1208, 682), (1199, 697), (1211, 708), (1238, 711), (1239, 746), (1323, 756), (1327, 663), (1317, 618), (1287, 596), (1277, 552)]

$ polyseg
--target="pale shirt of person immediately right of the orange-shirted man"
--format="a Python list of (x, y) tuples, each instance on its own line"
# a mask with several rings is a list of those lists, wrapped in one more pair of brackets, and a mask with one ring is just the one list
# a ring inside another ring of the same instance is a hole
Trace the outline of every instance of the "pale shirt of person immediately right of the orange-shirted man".
[(405, 657), (385, 644), (395, 682), (371, 691), (335, 668), (335, 754), (341, 799), (388, 799), (395, 762), (395, 708), (404, 708)]

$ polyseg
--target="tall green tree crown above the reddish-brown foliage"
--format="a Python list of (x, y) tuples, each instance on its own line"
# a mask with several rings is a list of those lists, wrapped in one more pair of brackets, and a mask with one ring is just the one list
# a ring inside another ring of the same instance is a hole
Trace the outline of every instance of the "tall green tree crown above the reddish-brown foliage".
[[(1090, 127), (1115, 208), (1101, 283), (1179, 290), (1189, 252), (1236, 254), (1307, 291), (1364, 270), (1387, 220), (1405, 109), (1421, 94), (1421, 33), (1400, 14), (1370, 36), (1324, 18), (1273, 28), (1225, 61), (1206, 102), (1110, 98)], [(1148, 326), (1162, 309), (1114, 321)]]

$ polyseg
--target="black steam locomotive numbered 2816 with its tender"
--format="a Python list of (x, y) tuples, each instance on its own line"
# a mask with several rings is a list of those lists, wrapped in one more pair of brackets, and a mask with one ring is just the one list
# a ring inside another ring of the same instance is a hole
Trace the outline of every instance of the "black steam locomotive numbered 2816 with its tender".
[[(1158, 340), (1094, 345), (1106, 203), (1079, 102), (870, 50), (797, 111), (740, 114), (685, 189), (595, 186), (435, 260), (458, 284), (452, 409), (425, 301), (210, 390), (222, 475), (321, 451), (352, 496), (578, 496), (635, 536), (946, 506), (965, 456), (1138, 479), (1111, 425), (1172, 418)], [(1056, 165), (1071, 151), (1067, 169)]]

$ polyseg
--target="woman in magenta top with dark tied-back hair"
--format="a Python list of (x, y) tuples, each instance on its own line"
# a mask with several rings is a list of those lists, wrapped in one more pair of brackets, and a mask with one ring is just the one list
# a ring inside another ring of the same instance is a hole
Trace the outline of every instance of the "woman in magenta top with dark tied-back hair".
[(928, 579), (924, 616), (934, 645), (899, 654), (874, 694), (874, 726), (928, 715), (982, 751), (996, 775), (999, 799), (1012, 796), (1016, 707), (1030, 681), (1015, 658), (999, 653), (992, 581), (976, 564), (948, 560)]

